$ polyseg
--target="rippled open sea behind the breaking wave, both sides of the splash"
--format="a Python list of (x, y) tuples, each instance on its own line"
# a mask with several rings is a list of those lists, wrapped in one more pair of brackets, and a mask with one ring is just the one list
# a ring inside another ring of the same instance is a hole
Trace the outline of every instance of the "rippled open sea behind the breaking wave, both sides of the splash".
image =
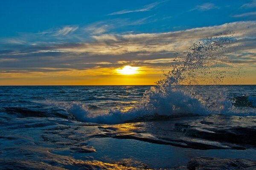
[[(0, 111), (6, 108), (23, 108), (41, 111), (50, 102), (81, 102), (92, 113), (108, 113), (113, 108), (131, 108), (143, 99), (151, 86), (0, 86)], [(247, 95), (256, 102), (256, 85), (194, 86), (198, 94), (209, 95), (225, 89), (227, 100)], [(48, 102), (48, 103), (47, 103)], [(49, 107), (49, 106), (48, 106)], [(49, 110), (50, 111), (50, 110)], [(31, 115), (33, 116), (33, 115)], [(37, 116), (36, 114), (34, 116)]]

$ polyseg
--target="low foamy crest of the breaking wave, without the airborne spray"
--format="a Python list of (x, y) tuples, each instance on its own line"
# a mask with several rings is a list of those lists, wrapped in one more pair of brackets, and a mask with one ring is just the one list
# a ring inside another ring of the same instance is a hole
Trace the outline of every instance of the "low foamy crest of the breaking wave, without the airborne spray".
[[(177, 99), (177, 94), (175, 95)], [(180, 98), (182, 98), (181, 94)], [(171, 97), (171, 96), (169, 96)], [(179, 98), (179, 97), (178, 97)], [(120, 109), (111, 109), (108, 113), (97, 113), (92, 114), (87, 105), (81, 102), (71, 102), (61, 105), (56, 105), (59, 108), (66, 110), (68, 113), (73, 115), (77, 121), (80, 122), (93, 122), (100, 124), (120, 124), (125, 122), (144, 122), (158, 119), (168, 119), (172, 117), (181, 116), (198, 116), (198, 115), (209, 115), (209, 114), (224, 114), (234, 116), (256, 116), (255, 108), (248, 107), (235, 107), (233, 106), (227, 112), (209, 112), (207, 111), (200, 101), (189, 98), (186, 96), (182, 98), (182, 101), (173, 102), (170, 100), (167, 102), (166, 99), (158, 99), (154, 108), (136, 107), (128, 111), (122, 111)], [(230, 101), (231, 102), (231, 101)]]

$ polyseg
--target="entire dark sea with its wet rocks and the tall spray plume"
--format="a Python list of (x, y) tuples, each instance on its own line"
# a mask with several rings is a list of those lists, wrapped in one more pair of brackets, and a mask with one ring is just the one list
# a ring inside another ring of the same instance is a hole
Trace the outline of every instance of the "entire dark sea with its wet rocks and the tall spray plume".
[(218, 64), (231, 42), (194, 44), (154, 86), (0, 86), (0, 169), (255, 169), (256, 85), (218, 85), (241, 76)]

